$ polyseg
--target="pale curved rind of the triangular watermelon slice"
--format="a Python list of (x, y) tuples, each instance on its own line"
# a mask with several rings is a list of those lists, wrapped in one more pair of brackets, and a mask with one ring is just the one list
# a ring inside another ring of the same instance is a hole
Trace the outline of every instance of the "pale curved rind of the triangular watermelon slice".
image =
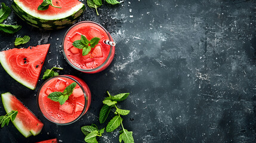
[(17, 80), (17, 82), (21, 83), (21, 85), (26, 86), (27, 88), (30, 88), (32, 90), (34, 90), (36, 87), (33, 86), (31, 83), (26, 82), (26, 80), (21, 79), (19, 76), (17, 76), (16, 74), (14, 74), (11, 69), (10, 66), (8, 65), (8, 62), (6, 60), (5, 54), (4, 52), (0, 52), (0, 63), (2, 64), (2, 67), (4, 67), (4, 70), (11, 76), (13, 77), (13, 79)]

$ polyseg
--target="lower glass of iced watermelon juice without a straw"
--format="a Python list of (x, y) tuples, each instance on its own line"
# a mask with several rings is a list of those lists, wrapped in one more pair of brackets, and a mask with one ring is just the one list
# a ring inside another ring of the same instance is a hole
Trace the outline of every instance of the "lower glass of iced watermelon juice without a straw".
[[(73, 82), (76, 82), (76, 87), (63, 105), (48, 98), (51, 92), (63, 92)], [(54, 76), (42, 84), (37, 100), (42, 114), (50, 122), (57, 125), (69, 125), (76, 122), (88, 111), (91, 104), (91, 92), (84, 80), (78, 77)]]

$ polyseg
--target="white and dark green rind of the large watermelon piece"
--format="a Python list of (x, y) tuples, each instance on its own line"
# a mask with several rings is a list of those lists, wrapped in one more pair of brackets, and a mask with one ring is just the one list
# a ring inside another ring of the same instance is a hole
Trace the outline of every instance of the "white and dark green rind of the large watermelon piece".
[(75, 23), (78, 17), (84, 13), (86, 7), (81, 2), (63, 14), (41, 15), (29, 10), (29, 8), (18, 2), (18, 0), (14, 0), (11, 8), (26, 23), (41, 29), (54, 30), (62, 29)]

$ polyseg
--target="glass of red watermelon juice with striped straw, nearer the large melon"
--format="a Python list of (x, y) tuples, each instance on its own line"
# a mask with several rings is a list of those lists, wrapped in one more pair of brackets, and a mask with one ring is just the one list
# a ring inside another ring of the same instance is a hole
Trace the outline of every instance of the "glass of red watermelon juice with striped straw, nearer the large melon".
[[(89, 41), (94, 38), (100, 38), (100, 42), (91, 49), (89, 54), (82, 55), (82, 49), (75, 48), (72, 43), (81, 39), (84, 35)], [(84, 73), (98, 73), (106, 69), (112, 62), (115, 55), (115, 46), (107, 45), (103, 41), (113, 42), (109, 32), (98, 23), (92, 21), (82, 21), (70, 27), (63, 38), (63, 54), (70, 64), (76, 70)]]

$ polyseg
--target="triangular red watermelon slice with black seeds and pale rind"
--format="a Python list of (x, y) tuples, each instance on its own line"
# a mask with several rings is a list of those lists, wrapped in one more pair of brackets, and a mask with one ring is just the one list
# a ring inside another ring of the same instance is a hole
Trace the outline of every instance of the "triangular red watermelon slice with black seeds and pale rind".
[(9, 49), (0, 52), (5, 71), (22, 85), (34, 90), (50, 44)]

